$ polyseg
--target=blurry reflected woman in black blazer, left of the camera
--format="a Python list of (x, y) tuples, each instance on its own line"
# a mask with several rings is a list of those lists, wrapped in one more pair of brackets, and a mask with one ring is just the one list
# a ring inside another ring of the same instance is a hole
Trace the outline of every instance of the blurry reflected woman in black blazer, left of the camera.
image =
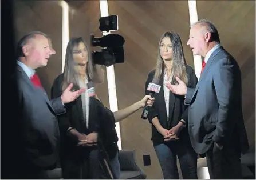
[[(93, 79), (93, 62), (86, 42), (71, 38), (66, 49), (64, 73), (52, 86), (52, 98), (59, 97), (73, 83), (73, 90), (85, 87)], [(60, 128), (60, 162), (64, 179), (99, 179), (100, 162), (97, 142), (99, 103), (83, 93), (65, 104), (66, 113), (58, 116)]]

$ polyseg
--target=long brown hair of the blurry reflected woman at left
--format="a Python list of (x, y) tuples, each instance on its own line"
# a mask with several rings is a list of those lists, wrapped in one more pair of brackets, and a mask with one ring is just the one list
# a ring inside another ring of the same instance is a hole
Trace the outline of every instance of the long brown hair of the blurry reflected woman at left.
[(70, 83), (73, 83), (73, 89), (75, 90), (79, 89), (79, 81), (78, 81), (79, 75), (75, 70), (76, 62), (74, 62), (73, 50), (74, 50), (74, 47), (78, 46), (80, 42), (84, 43), (88, 51), (88, 62), (86, 66), (86, 75), (88, 77), (88, 81), (91, 81), (91, 79), (93, 79), (94, 67), (93, 67), (93, 60), (89, 50), (89, 46), (81, 37), (71, 38), (68, 42), (68, 46), (66, 47), (66, 58), (65, 58), (64, 79), (63, 79), (64, 81), (63, 81), (62, 90), (65, 90)]

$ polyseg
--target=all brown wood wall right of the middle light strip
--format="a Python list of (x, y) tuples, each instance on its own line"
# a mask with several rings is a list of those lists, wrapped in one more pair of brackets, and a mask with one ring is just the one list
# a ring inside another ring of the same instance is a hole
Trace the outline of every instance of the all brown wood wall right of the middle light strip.
[[(109, 1), (109, 14), (119, 15), (119, 31), (125, 42), (125, 63), (115, 65), (119, 108), (144, 95), (147, 74), (155, 66), (157, 45), (166, 30), (180, 34), (184, 54), (193, 65), (186, 42), (189, 34), (187, 1)], [(249, 143), (255, 142), (255, 1), (197, 1), (198, 18), (212, 21), (222, 45), (237, 59), (243, 78), (243, 113)], [(123, 149), (135, 149), (139, 165), (151, 154), (152, 165), (143, 167), (148, 178), (162, 178), (150, 141), (151, 127), (140, 119), (141, 111), (121, 122)]]

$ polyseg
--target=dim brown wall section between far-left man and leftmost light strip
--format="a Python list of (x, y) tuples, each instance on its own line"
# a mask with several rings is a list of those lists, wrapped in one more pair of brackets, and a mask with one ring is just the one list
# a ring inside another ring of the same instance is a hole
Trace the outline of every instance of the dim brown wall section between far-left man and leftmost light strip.
[(61, 73), (62, 7), (58, 1), (14, 1), (16, 42), (30, 31), (42, 31), (52, 38), (56, 54), (46, 67), (37, 70), (48, 95), (54, 78)]

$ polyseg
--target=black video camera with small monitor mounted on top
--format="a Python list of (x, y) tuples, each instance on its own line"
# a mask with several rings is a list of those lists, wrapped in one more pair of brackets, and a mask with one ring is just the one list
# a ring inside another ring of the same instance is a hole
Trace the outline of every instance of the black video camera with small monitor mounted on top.
[[(117, 31), (118, 17), (117, 15), (110, 15), (108, 17), (101, 17), (100, 31)], [(94, 35), (90, 37), (92, 46), (100, 46), (101, 51), (92, 52), (92, 58), (95, 64), (111, 66), (116, 63), (124, 62), (124, 38), (118, 34), (103, 35), (101, 38), (96, 38)]]

